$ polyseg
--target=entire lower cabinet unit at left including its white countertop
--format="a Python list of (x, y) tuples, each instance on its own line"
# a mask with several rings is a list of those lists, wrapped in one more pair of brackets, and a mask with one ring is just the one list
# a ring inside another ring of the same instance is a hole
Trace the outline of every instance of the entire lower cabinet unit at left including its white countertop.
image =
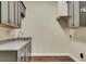
[(30, 60), (32, 38), (28, 40), (14, 38), (0, 42), (0, 62), (28, 62)]

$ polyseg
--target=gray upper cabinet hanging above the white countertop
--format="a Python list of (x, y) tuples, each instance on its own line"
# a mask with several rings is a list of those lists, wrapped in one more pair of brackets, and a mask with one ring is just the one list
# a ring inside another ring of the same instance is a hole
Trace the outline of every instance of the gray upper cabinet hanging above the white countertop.
[(24, 3), (22, 1), (1, 1), (0, 7), (0, 25), (21, 28), (26, 10)]

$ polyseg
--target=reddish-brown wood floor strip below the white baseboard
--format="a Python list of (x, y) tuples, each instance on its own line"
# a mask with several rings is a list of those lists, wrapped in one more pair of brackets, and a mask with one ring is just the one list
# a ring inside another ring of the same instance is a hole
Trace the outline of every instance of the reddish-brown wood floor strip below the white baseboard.
[(70, 56), (32, 56), (30, 62), (75, 62)]

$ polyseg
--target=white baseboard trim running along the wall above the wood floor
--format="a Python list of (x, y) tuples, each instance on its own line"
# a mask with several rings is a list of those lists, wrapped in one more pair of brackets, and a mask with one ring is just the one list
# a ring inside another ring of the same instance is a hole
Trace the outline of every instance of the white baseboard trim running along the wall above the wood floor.
[(74, 61), (76, 62), (81, 62), (77, 57), (75, 57), (74, 55), (72, 55), (71, 53), (32, 53), (32, 56), (54, 56), (54, 55), (63, 55), (63, 56), (70, 56), (72, 57)]

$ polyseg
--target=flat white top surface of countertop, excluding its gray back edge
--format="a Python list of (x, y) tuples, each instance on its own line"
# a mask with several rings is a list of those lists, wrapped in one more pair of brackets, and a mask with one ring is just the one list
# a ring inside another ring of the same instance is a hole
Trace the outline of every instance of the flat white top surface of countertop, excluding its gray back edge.
[(25, 44), (27, 44), (30, 40), (28, 41), (11, 41), (8, 43), (2, 43), (0, 44), (0, 51), (17, 51)]

